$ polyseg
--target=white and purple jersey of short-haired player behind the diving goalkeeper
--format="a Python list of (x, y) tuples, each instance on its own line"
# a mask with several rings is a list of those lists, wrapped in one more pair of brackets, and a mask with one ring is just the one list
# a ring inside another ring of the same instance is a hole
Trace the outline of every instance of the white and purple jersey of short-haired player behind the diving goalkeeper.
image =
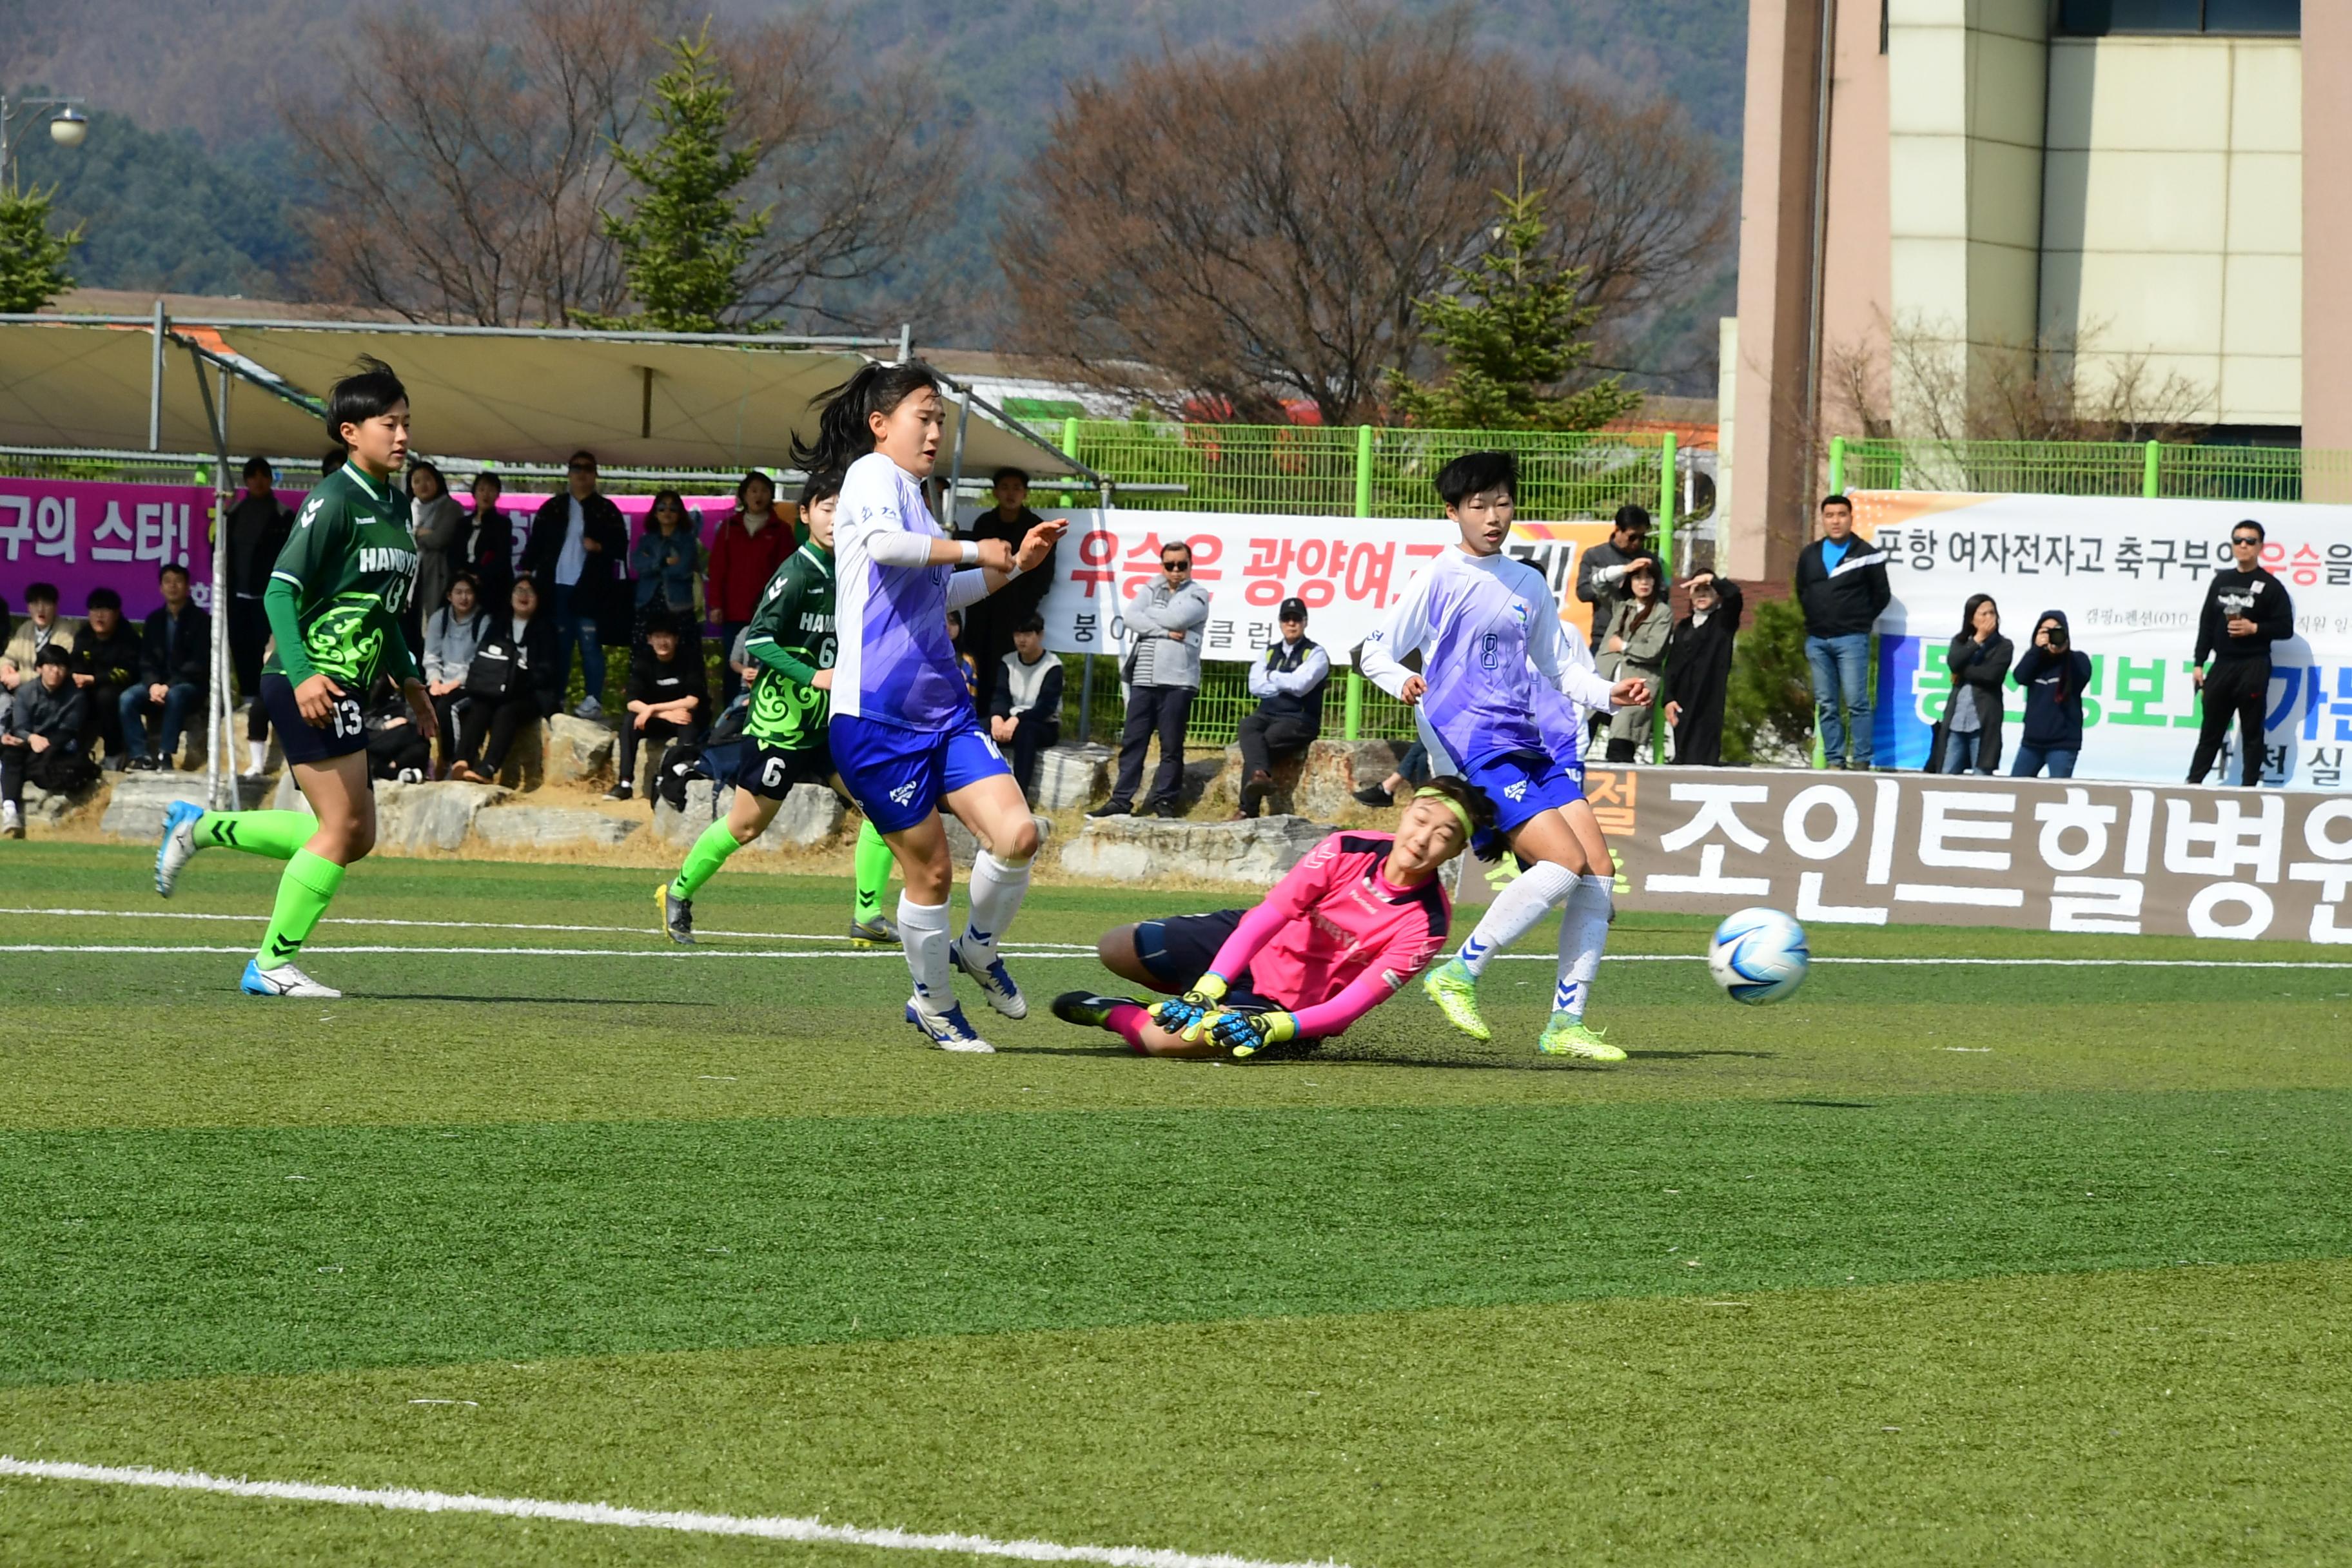
[(1543, 574), (1508, 555), (1449, 548), (1364, 639), (1364, 677), (1395, 696), (1421, 651), (1421, 715), (1463, 766), (1501, 752), (1573, 757), (1576, 703), (1609, 708), (1592, 651), (1559, 625)]

